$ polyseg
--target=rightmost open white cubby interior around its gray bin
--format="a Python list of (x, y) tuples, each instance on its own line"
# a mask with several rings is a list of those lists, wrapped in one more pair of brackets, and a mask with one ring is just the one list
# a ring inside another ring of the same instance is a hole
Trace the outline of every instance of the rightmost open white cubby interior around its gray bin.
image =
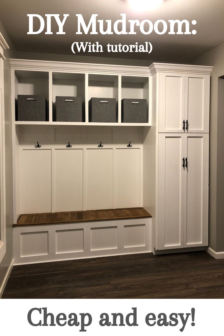
[(121, 76), (121, 99), (146, 99), (147, 123), (149, 122), (149, 77)]

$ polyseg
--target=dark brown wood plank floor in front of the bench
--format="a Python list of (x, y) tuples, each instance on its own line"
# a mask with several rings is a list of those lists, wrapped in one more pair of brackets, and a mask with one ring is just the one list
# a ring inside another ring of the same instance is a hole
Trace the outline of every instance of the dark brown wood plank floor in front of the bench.
[(3, 298), (224, 298), (224, 260), (151, 253), (14, 266)]

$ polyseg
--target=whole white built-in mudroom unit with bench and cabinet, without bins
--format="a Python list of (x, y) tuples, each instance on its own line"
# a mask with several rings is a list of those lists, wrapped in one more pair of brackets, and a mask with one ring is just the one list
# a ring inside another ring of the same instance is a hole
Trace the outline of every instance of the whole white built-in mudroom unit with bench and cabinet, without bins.
[[(10, 59), (14, 264), (208, 246), (212, 67)], [(18, 95), (44, 95), (47, 121), (18, 121)], [(54, 121), (55, 97), (83, 121)], [(92, 97), (116, 122), (91, 122)], [(122, 99), (147, 100), (126, 123)]]

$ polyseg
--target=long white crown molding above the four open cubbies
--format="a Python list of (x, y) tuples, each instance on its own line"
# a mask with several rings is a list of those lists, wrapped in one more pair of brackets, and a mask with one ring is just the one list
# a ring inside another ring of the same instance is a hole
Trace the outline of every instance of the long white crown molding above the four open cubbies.
[(125, 75), (150, 76), (148, 67), (121, 65), (105, 65), (92, 63), (43, 61), (10, 58), (12, 69), (16, 70), (47, 70), (65, 72), (112, 73)]

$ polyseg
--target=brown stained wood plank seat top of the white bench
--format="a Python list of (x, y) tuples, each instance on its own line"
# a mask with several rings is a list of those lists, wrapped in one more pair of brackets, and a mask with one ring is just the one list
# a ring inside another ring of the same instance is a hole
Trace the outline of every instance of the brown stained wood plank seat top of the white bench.
[(24, 225), (45, 225), (45, 224), (62, 224), (75, 222), (90, 222), (99, 220), (116, 220), (116, 219), (133, 219), (148, 218), (151, 215), (143, 208), (126, 208), (126, 209), (108, 209), (108, 210), (87, 210), (87, 211), (70, 211), (55, 213), (34, 213), (20, 215), (17, 224), (13, 226)]

